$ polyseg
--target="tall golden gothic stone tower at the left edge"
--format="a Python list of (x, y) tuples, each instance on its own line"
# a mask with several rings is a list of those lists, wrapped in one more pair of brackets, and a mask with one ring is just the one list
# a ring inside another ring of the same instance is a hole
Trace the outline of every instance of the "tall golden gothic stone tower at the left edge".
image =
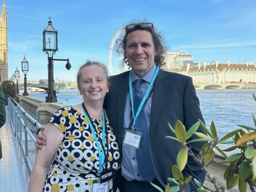
[(5, 0), (0, 16), (0, 83), (8, 79), (7, 9)]

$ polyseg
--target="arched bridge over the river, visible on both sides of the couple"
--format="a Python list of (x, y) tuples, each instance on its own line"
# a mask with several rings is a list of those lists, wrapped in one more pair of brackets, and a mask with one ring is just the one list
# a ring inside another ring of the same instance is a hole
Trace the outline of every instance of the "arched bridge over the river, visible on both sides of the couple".
[[(195, 89), (256, 89), (256, 84), (248, 83), (212, 83), (212, 82), (195, 82)], [(19, 88), (24, 87), (24, 84), (19, 84)], [(48, 83), (35, 83), (27, 84), (27, 87), (37, 87), (48, 90)], [(59, 92), (62, 89), (74, 89), (77, 88), (76, 82), (66, 83), (54, 83), (54, 90)]]

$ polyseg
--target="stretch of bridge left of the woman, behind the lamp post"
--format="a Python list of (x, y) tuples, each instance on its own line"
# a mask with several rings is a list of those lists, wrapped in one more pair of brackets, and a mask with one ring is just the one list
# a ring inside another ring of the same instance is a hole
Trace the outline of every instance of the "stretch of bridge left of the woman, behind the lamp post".
[[(19, 84), (19, 88), (24, 87), (24, 84)], [(48, 83), (38, 83), (38, 84), (27, 84), (27, 87), (37, 87), (48, 91)], [(59, 92), (62, 89), (70, 89), (70, 88), (77, 88), (77, 83), (76, 82), (71, 82), (71, 83), (54, 83), (54, 90), (56, 92)]]

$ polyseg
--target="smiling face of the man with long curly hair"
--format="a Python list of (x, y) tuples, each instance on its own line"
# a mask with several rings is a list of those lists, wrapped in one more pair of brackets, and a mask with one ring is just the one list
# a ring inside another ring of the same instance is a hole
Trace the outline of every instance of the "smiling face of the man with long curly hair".
[(149, 31), (135, 30), (127, 35), (125, 56), (140, 78), (153, 67), (155, 55), (157, 52)]

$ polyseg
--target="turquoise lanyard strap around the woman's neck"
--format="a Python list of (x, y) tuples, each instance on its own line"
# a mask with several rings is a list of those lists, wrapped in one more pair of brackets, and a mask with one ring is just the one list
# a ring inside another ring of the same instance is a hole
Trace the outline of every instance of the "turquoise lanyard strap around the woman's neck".
[[(105, 149), (105, 146), (106, 146), (106, 142), (105, 142), (105, 114), (104, 114), (104, 110), (102, 112), (102, 150), (100, 148), (100, 144), (99, 144), (99, 140), (97, 139), (96, 137), (96, 134), (95, 134), (95, 131), (94, 131), (94, 128), (91, 124), (91, 117), (88, 113), (88, 111), (86, 110), (84, 104), (82, 103), (82, 109), (83, 109), (83, 112), (84, 112), (84, 115), (85, 117), (88, 119), (88, 123), (89, 123), (89, 126), (91, 128), (91, 134), (96, 142), (96, 146), (98, 148), (98, 153), (99, 153), (99, 157), (100, 157), (100, 172), (102, 172), (102, 169), (103, 169), (103, 165), (104, 165), (104, 160), (105, 160), (105, 153), (104, 153), (104, 149)], [(108, 165), (108, 162), (107, 162), (107, 158), (106, 158), (106, 166)]]

